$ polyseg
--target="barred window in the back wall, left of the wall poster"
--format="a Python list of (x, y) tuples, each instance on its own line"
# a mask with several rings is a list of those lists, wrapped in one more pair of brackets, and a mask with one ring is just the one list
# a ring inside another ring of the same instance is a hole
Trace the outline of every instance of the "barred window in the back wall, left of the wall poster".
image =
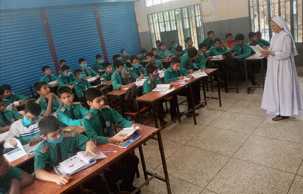
[(201, 4), (148, 14), (147, 18), (154, 47), (156, 40), (161, 40), (169, 49), (171, 41), (175, 40), (184, 49), (185, 38), (191, 37), (193, 46), (198, 48), (204, 39)]

